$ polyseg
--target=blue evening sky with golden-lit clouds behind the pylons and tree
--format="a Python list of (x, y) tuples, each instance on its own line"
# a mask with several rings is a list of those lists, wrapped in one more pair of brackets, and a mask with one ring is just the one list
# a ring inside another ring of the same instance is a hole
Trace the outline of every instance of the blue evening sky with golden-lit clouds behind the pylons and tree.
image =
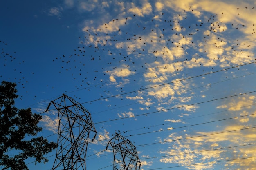
[[(0, 80), (57, 141), (63, 93), (97, 130), (86, 168), (112, 169), (115, 132), (142, 170), (256, 170), (253, 0), (0, 2)], [(92, 138), (92, 137), (91, 137)], [(90, 139), (91, 139), (90, 138)], [(104, 140), (103, 140), (104, 139)], [(45, 165), (52, 169), (56, 150)]]

